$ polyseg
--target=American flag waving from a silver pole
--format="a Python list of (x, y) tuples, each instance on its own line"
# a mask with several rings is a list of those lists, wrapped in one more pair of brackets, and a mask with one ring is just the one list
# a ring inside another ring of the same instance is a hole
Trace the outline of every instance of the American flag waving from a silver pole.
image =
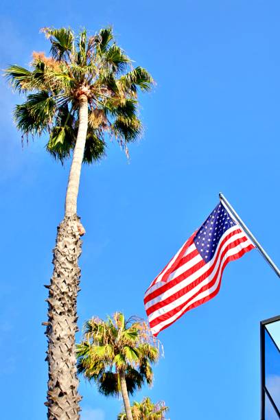
[(220, 202), (145, 292), (152, 334), (157, 336), (185, 312), (212, 299), (220, 290), (226, 264), (253, 248), (242, 227)]

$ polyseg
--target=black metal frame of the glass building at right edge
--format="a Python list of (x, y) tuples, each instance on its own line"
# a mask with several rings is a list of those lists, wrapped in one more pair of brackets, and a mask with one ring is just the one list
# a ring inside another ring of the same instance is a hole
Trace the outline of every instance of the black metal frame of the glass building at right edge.
[[(272, 342), (275, 344), (275, 347), (278, 349), (278, 346), (275, 343), (275, 340), (273, 340), (272, 336), (270, 335), (270, 332), (268, 329), (266, 329), (266, 325), (274, 323), (275, 321), (280, 320), (279, 316), (274, 316), (273, 318), (268, 318), (266, 320), (261, 321), (260, 323), (260, 335), (261, 335), (261, 420), (267, 420), (265, 417), (265, 410), (266, 410), (266, 396), (270, 400), (270, 404), (275, 409), (275, 413), (278, 415), (280, 419), (280, 412), (275, 405), (275, 402), (273, 401), (270, 393), (268, 392), (268, 389), (266, 388), (266, 371), (265, 371), (265, 361), (266, 361), (266, 347), (265, 347), (265, 331), (270, 336)], [(279, 351), (279, 349), (278, 349)], [(280, 353), (280, 351), (279, 351)]]

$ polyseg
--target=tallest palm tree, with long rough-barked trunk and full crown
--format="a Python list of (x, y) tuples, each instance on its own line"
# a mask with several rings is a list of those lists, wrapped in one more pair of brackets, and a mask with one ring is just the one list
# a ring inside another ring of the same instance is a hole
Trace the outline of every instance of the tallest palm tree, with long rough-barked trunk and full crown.
[(79, 419), (75, 366), (76, 300), (80, 281), (78, 257), (84, 228), (77, 215), (82, 163), (102, 159), (106, 141), (115, 137), (126, 153), (141, 134), (138, 92), (148, 91), (152, 77), (115, 43), (110, 27), (88, 36), (71, 29), (43, 28), (50, 56), (34, 53), (30, 69), (5, 70), (15, 91), (25, 95), (16, 105), (16, 126), (28, 136), (47, 136), (49, 152), (62, 163), (72, 156), (65, 198), (65, 216), (54, 248), (47, 325), (49, 419)]

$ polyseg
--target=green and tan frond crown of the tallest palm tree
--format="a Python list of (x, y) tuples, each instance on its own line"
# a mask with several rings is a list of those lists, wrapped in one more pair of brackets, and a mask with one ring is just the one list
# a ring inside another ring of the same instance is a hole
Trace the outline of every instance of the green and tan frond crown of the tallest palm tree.
[(115, 43), (107, 27), (95, 36), (83, 30), (43, 28), (51, 42), (51, 56), (34, 52), (30, 69), (12, 65), (5, 75), (13, 88), (26, 95), (14, 110), (16, 126), (28, 135), (49, 135), (47, 151), (64, 161), (75, 147), (79, 126), (79, 98), (86, 95), (89, 126), (84, 162), (105, 154), (106, 139), (127, 143), (141, 134), (137, 94), (150, 90), (152, 77)]

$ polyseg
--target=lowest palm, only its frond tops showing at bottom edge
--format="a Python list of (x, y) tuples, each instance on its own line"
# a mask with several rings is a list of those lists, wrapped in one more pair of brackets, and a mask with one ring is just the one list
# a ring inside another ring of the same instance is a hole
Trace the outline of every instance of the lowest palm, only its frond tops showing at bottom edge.
[[(143, 398), (141, 403), (134, 401), (131, 411), (134, 420), (164, 420), (165, 412), (169, 408), (165, 406), (164, 401), (154, 404), (149, 397)], [(117, 420), (126, 420), (126, 412), (121, 412)]]

